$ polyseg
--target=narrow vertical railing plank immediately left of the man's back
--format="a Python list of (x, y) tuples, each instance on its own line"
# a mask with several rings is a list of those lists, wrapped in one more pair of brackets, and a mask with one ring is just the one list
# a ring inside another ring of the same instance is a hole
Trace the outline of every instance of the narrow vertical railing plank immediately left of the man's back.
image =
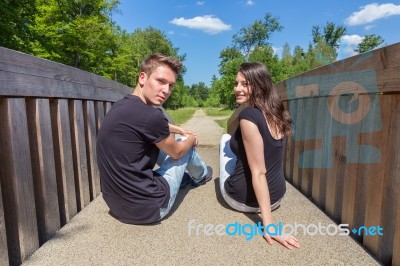
[(100, 174), (97, 168), (96, 156), (96, 117), (93, 101), (85, 101), (83, 106), (85, 117), (85, 136), (90, 185), (90, 199), (93, 200), (100, 194)]

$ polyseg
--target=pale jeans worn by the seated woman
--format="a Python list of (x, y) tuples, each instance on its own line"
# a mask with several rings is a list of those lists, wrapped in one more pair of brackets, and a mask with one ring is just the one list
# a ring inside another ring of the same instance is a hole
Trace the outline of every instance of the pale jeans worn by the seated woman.
[[(229, 134), (224, 134), (221, 137), (221, 142), (219, 146), (219, 162), (220, 162), (220, 175), (219, 175), (219, 187), (221, 190), (222, 197), (228, 203), (228, 205), (237, 211), (240, 212), (254, 212), (259, 213), (260, 208), (258, 207), (250, 207), (244, 203), (238, 202), (231, 198), (228, 193), (225, 191), (225, 181), (231, 175), (231, 173), (235, 170), (236, 165), (236, 156), (232, 152), (231, 147), (229, 145), (231, 136)], [(271, 205), (271, 211), (275, 210), (279, 207), (282, 202), (282, 199), (279, 199), (277, 202)]]

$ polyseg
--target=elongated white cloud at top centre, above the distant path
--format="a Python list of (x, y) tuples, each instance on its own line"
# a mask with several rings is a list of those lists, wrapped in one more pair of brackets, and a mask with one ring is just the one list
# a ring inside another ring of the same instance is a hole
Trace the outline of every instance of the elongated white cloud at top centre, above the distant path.
[(222, 20), (211, 15), (202, 17), (174, 18), (169, 23), (189, 29), (202, 30), (208, 34), (217, 34), (222, 31), (230, 30), (231, 25), (225, 24)]

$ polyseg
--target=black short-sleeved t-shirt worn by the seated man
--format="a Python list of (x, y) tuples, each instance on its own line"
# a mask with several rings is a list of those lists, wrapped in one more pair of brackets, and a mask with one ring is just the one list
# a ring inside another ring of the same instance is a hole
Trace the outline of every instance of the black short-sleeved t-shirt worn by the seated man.
[(159, 149), (169, 135), (168, 120), (158, 108), (127, 95), (104, 118), (97, 137), (97, 162), (103, 198), (124, 223), (160, 219), (170, 197), (167, 181), (155, 175)]

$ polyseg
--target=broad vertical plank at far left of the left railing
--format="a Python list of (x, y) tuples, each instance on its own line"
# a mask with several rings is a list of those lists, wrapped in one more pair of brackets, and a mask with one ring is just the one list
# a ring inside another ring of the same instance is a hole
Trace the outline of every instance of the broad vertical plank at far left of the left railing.
[(19, 265), (39, 248), (25, 99), (0, 99), (0, 124), (0, 179), (9, 260)]

